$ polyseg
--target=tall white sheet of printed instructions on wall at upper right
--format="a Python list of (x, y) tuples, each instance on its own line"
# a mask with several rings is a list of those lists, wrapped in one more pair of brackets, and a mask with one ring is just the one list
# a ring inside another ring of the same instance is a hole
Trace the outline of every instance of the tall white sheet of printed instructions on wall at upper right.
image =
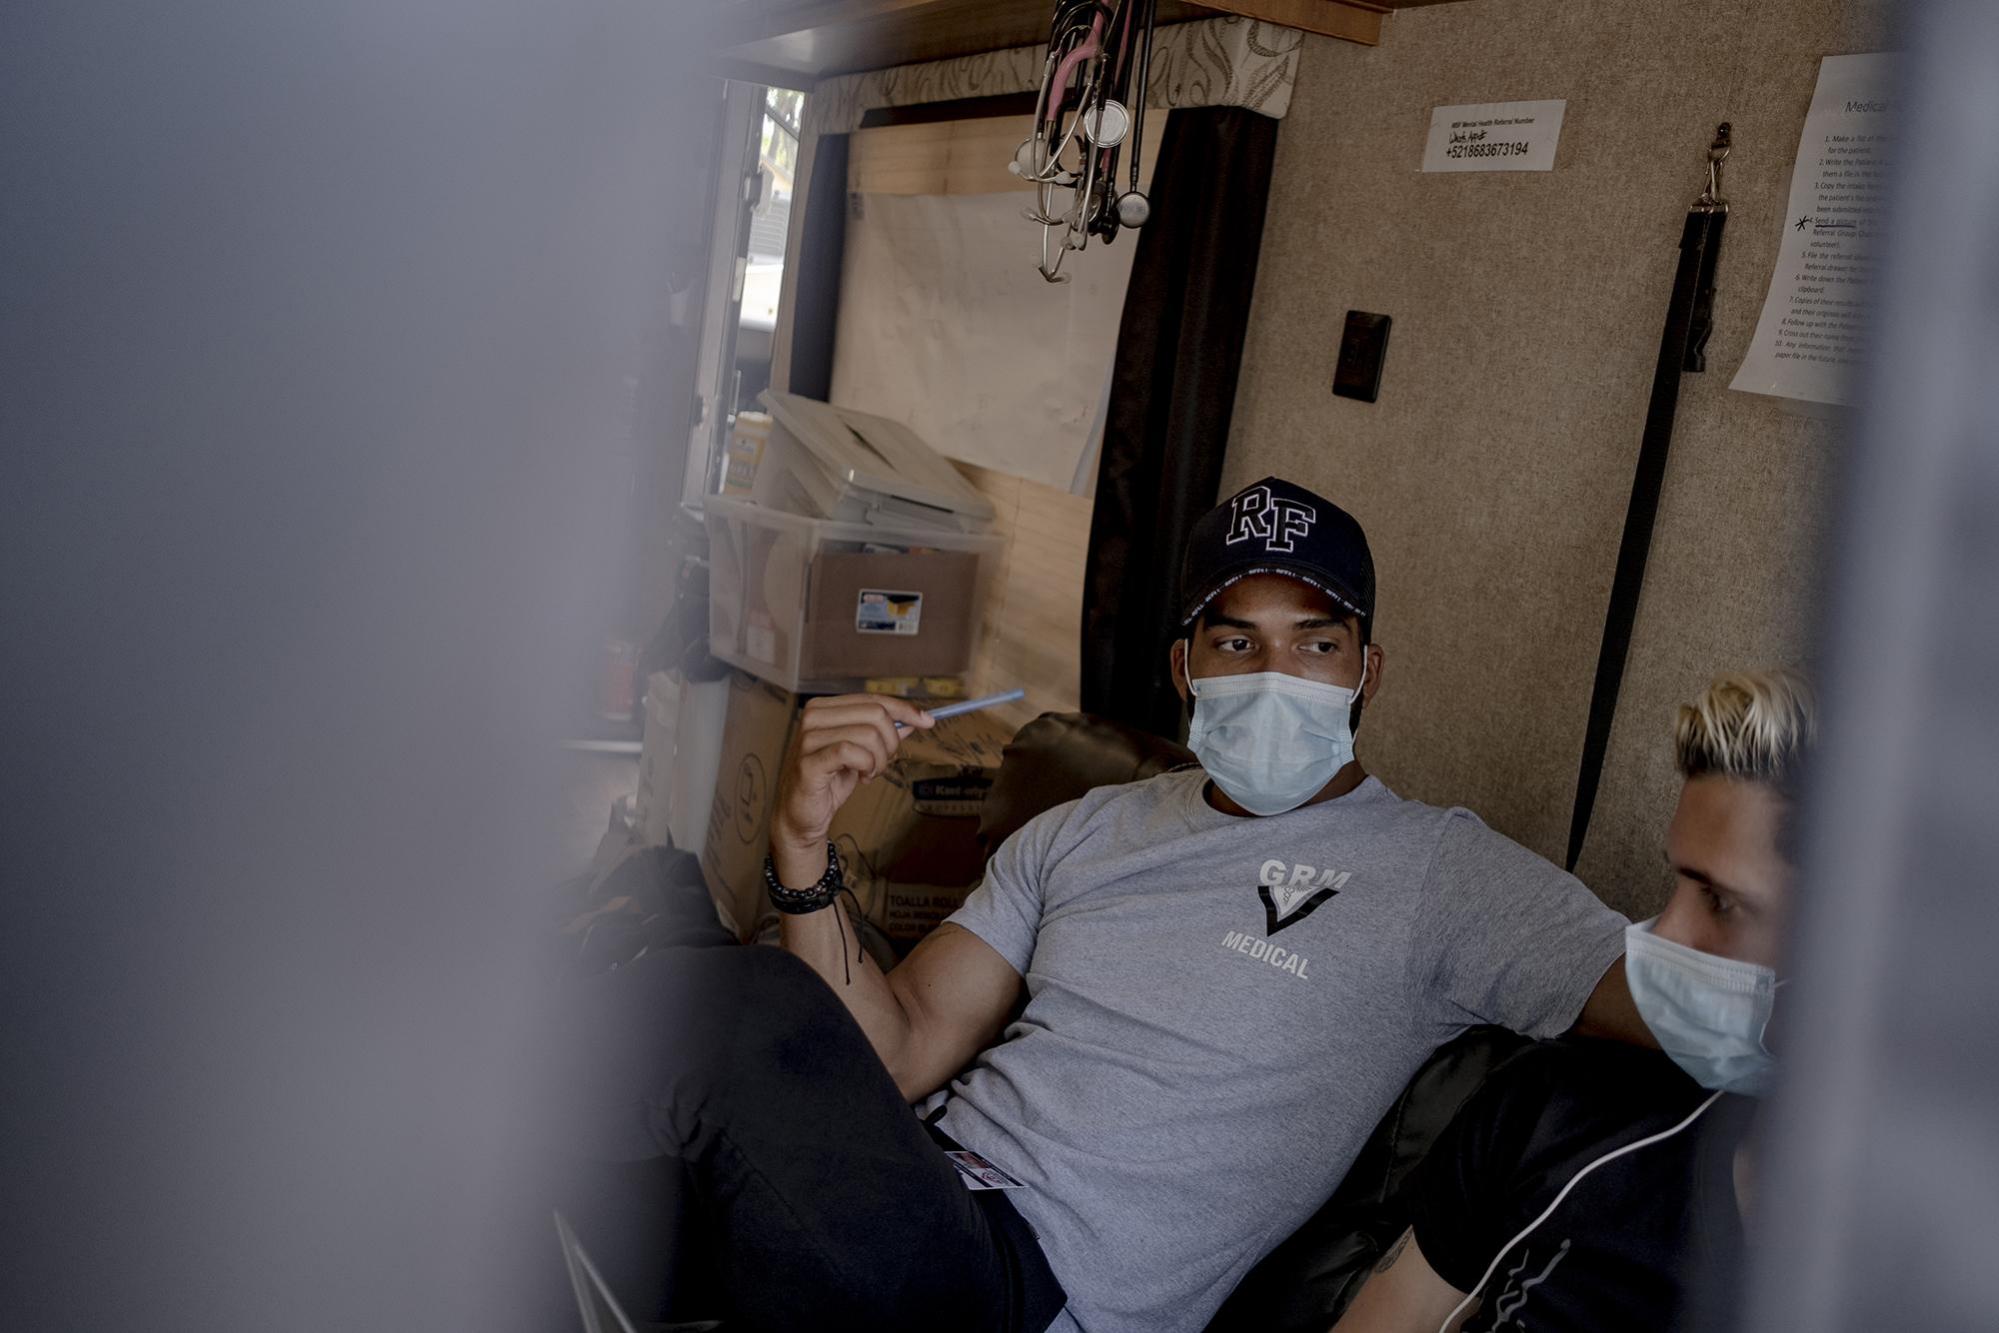
[(1895, 56), (1827, 56), (1791, 168), (1777, 270), (1749, 356), (1729, 388), (1851, 404), (1865, 342), (1887, 160)]

